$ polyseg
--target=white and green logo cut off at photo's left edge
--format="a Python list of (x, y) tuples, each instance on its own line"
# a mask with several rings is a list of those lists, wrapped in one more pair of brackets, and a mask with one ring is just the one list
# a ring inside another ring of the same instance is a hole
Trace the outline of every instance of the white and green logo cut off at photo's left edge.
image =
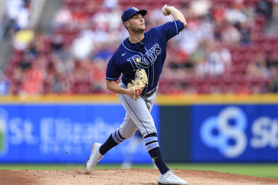
[(0, 156), (8, 151), (7, 120), (7, 111), (0, 108)]

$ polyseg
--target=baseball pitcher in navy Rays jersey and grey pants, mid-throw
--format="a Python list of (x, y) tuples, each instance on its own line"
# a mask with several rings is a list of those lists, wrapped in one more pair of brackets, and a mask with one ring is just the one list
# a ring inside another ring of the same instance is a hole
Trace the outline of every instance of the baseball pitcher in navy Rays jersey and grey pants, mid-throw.
[[(147, 32), (144, 32), (146, 28), (143, 19), (147, 10), (132, 7), (122, 14), (122, 23), (127, 28), (129, 37), (120, 44), (108, 62), (106, 85), (110, 91), (117, 93), (126, 115), (122, 125), (105, 143), (92, 145), (86, 164), (87, 172), (92, 171), (107, 151), (131, 138), (139, 129), (144, 136), (146, 149), (159, 169), (158, 184), (187, 184), (164, 163), (156, 127), (150, 114), (166, 58), (167, 42), (187, 25), (182, 13), (173, 6), (164, 5), (162, 13), (164, 16), (171, 14), (174, 20)], [(121, 74), (122, 78), (117, 84)]]

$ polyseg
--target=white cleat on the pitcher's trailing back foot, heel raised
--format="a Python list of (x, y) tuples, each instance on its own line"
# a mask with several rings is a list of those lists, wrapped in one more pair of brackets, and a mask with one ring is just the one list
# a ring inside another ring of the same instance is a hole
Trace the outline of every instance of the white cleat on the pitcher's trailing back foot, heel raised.
[(94, 145), (92, 145), (91, 155), (87, 160), (87, 164), (85, 166), (86, 172), (91, 173), (98, 161), (103, 158), (103, 155), (99, 153), (99, 148), (101, 145), (102, 144), (100, 143), (94, 143)]

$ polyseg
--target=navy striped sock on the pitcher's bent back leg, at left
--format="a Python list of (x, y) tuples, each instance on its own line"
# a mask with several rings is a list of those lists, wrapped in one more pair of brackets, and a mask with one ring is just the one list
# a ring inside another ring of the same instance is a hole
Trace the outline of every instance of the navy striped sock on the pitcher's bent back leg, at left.
[(103, 143), (103, 145), (99, 148), (99, 153), (104, 155), (107, 151), (109, 151), (114, 146), (122, 143), (125, 140), (119, 132), (119, 128), (116, 129), (112, 134), (110, 134), (109, 138)]

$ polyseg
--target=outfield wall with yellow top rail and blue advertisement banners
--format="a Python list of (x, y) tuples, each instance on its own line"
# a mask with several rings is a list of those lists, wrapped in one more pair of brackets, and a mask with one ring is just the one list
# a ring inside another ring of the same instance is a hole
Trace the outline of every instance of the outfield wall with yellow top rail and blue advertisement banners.
[[(151, 112), (167, 162), (278, 162), (277, 95), (158, 95)], [(116, 95), (0, 97), (0, 162), (85, 162), (119, 127)], [(136, 134), (101, 163), (149, 163)]]

